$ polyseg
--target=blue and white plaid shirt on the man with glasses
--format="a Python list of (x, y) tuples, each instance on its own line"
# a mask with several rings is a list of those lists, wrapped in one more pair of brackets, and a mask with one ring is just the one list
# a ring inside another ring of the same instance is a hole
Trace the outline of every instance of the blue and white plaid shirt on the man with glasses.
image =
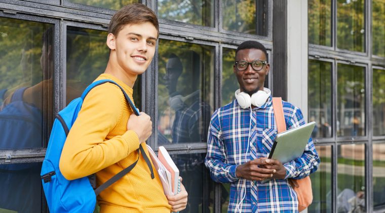
[[(283, 101), (287, 129), (305, 124), (300, 109)], [(312, 138), (300, 158), (285, 163), (285, 180), (272, 180), (265, 184), (248, 181), (236, 176), (237, 165), (245, 163), (250, 132), (247, 160), (268, 157), (277, 135), (277, 127), (270, 96), (260, 108), (242, 109), (237, 100), (219, 108), (211, 117), (206, 166), (215, 182), (230, 183), (228, 212), (298, 212), (297, 195), (287, 182), (288, 178), (301, 179), (315, 172), (320, 163)], [(246, 181), (246, 188), (244, 187)]]

